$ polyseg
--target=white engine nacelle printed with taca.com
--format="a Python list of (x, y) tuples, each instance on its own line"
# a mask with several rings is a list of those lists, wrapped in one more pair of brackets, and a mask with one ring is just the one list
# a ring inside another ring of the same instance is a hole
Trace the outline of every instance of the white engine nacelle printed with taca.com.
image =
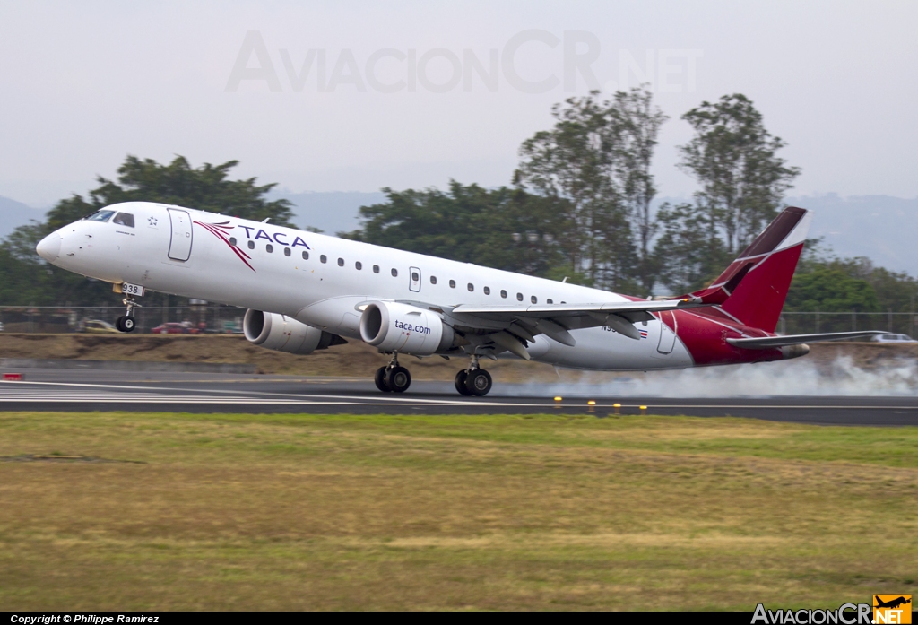
[(430, 356), (453, 346), (453, 329), (432, 310), (373, 302), (360, 318), (360, 337), (382, 352)]

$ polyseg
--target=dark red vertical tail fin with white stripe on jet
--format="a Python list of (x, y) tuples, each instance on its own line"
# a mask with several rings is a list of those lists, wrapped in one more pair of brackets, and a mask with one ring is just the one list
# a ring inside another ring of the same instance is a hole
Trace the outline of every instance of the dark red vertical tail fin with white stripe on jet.
[(774, 332), (811, 219), (803, 208), (785, 208), (714, 284), (691, 296), (721, 303), (746, 326)]

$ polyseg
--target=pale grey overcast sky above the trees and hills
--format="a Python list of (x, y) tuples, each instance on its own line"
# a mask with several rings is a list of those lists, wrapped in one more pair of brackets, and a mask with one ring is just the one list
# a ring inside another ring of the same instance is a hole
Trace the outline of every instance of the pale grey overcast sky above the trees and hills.
[(126, 154), (296, 192), (508, 184), (554, 103), (651, 80), (661, 195), (695, 188), (681, 114), (743, 93), (790, 195), (914, 197), (916, 26), (904, 1), (0, 0), (0, 195), (49, 205)]

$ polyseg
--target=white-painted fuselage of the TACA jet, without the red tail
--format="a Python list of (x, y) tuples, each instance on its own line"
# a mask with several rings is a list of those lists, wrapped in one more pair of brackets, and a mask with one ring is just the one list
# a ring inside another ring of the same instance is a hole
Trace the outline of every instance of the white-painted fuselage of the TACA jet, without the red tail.
[[(110, 208), (132, 215), (134, 226), (112, 220), (74, 222), (58, 230), (60, 250), (49, 260), (111, 283), (280, 313), (349, 339), (360, 340), (361, 311), (374, 300), (455, 307), (626, 299), (599, 289), (179, 206), (129, 202)], [(42, 252), (46, 258), (48, 254)], [(533, 360), (583, 369), (692, 366), (688, 350), (657, 318), (637, 327), (645, 330), (646, 338), (633, 340), (606, 328), (574, 329), (574, 347), (539, 335), (527, 351)]]

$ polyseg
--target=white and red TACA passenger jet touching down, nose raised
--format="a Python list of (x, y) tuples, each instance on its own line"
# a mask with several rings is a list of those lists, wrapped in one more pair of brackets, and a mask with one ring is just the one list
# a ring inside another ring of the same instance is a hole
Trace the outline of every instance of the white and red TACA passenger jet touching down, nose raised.
[(785, 208), (710, 286), (662, 301), (154, 202), (107, 206), (41, 240), (39, 256), (112, 283), (117, 327), (150, 291), (247, 308), (246, 339), (308, 354), (364, 340), (389, 355), (384, 393), (411, 384), (399, 356), (468, 359), (464, 396), (493, 385), (482, 359), (649, 371), (788, 360), (806, 343), (876, 331), (778, 336), (812, 213)]

